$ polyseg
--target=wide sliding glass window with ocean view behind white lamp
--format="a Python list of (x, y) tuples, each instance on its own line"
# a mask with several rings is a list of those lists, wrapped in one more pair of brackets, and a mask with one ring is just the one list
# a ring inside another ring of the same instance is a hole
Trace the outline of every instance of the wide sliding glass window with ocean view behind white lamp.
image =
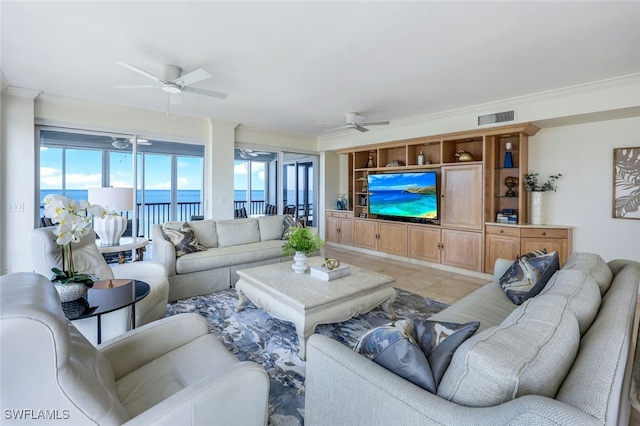
[(133, 137), (39, 130), (41, 201), (50, 193), (80, 200), (88, 188), (135, 186), (136, 211), (123, 213), (136, 218), (138, 234), (146, 237), (154, 223), (202, 215), (203, 146), (140, 139), (134, 179)]

